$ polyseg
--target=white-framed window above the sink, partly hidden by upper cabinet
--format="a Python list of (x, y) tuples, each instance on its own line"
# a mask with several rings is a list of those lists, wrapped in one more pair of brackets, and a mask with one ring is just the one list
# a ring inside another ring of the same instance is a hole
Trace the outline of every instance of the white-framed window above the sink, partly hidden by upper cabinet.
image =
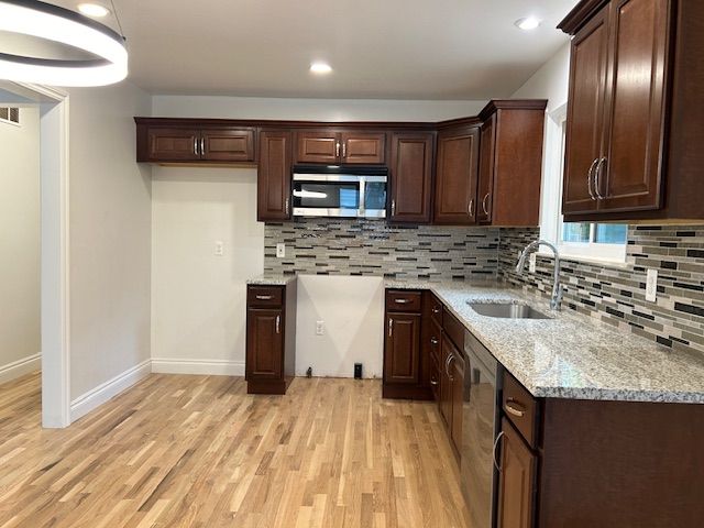
[(564, 256), (626, 262), (627, 224), (563, 221), (561, 208), (565, 123), (566, 105), (553, 111), (547, 123), (540, 237), (554, 243)]

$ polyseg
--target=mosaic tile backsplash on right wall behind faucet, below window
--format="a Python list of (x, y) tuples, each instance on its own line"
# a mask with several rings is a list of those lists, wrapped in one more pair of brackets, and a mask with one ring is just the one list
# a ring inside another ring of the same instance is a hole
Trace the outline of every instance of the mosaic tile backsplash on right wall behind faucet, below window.
[[(499, 277), (527, 290), (552, 293), (552, 258), (536, 274), (515, 273), (516, 255), (538, 229), (502, 229)], [(563, 308), (631, 331), (666, 346), (704, 352), (704, 226), (631, 226), (628, 266), (563, 261)], [(658, 300), (646, 301), (646, 270), (658, 271)]]

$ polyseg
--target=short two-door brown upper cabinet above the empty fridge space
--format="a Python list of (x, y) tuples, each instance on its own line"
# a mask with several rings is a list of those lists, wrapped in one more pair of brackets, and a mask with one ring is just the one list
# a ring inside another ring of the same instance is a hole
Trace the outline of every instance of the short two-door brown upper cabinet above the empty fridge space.
[(251, 163), (254, 129), (201, 128), (190, 123), (162, 127), (138, 121), (136, 152), (138, 162), (148, 163)]

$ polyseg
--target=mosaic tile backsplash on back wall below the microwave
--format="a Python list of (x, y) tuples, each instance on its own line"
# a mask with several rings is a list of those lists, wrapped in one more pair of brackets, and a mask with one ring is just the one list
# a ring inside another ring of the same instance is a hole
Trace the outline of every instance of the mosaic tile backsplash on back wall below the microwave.
[[(267, 223), (264, 271), (395, 278), (497, 278), (498, 229), (388, 226), (374, 220)], [(276, 258), (276, 244), (286, 257)]]

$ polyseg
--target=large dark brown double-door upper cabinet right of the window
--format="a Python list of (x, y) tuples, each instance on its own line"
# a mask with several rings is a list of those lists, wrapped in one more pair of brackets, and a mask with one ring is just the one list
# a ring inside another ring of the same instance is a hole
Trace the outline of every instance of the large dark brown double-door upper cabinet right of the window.
[(565, 220), (704, 218), (702, 20), (704, 2), (583, 0), (561, 22)]

